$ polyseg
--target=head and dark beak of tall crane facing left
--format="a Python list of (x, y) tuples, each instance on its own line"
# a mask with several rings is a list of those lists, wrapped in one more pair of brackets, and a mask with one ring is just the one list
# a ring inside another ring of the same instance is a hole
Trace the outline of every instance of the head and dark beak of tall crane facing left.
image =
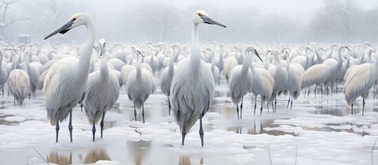
[(92, 21), (92, 18), (89, 14), (83, 12), (74, 14), (67, 23), (65, 23), (61, 28), (55, 30), (54, 32), (46, 36), (45, 39), (48, 39), (50, 38), (50, 36), (54, 36), (58, 33), (65, 34), (69, 30), (72, 30), (73, 28), (76, 28), (79, 25), (86, 25), (88, 21)]

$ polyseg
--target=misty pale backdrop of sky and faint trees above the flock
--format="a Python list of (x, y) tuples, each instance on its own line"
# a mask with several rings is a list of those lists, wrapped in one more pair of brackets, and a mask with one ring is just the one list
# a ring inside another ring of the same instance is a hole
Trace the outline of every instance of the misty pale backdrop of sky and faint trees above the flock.
[(200, 40), (222, 43), (363, 43), (378, 41), (378, 1), (74, 1), (4, 0), (0, 5), (0, 37), (32, 42), (81, 43), (85, 27), (43, 41), (77, 12), (94, 19), (96, 38), (108, 42), (190, 43), (191, 15), (201, 9), (227, 25), (200, 25)]

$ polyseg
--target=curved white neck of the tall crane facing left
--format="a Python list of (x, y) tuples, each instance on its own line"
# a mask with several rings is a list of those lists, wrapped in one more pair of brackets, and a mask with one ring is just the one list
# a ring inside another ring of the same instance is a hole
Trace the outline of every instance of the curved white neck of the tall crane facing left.
[(90, 70), (90, 61), (92, 56), (92, 47), (94, 43), (94, 39), (96, 39), (96, 30), (94, 29), (94, 23), (92, 19), (88, 19), (87, 21), (87, 38), (83, 44), (83, 50), (80, 53), (78, 59), (78, 72), (80, 76), (87, 76)]

